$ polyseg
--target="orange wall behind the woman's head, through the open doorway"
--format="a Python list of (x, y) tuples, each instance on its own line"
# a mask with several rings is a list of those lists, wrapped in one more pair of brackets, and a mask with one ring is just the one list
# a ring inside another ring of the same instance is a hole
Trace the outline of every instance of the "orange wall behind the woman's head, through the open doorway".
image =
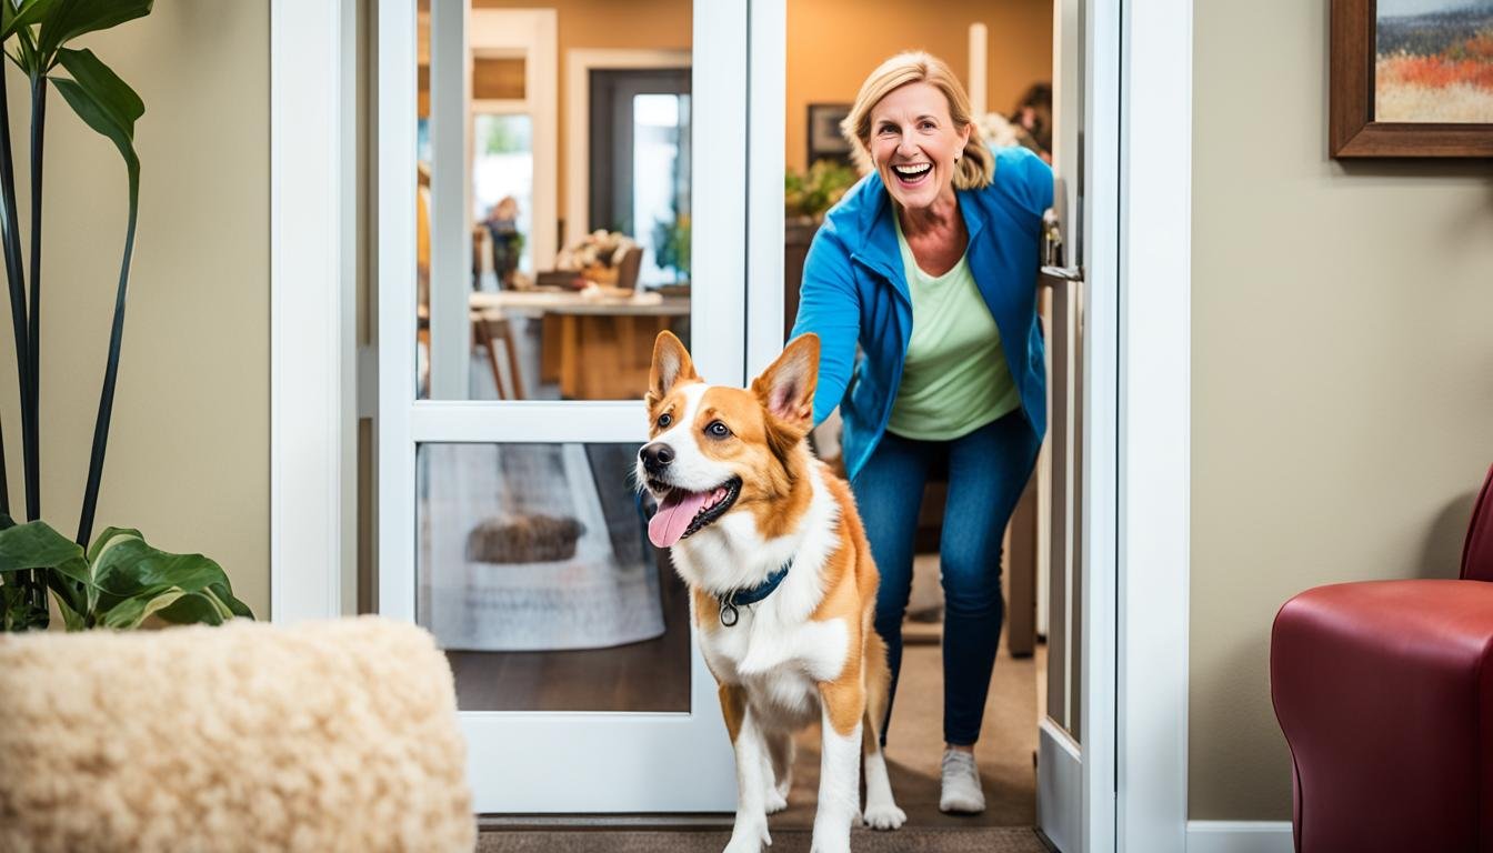
[(788, 1), (787, 166), (806, 166), (811, 103), (850, 103), (887, 57), (924, 49), (969, 85), (969, 25), (984, 22), (985, 106), (1009, 114), (1033, 82), (1053, 79), (1053, 0), (948, 0), (929, 15), (900, 3)]

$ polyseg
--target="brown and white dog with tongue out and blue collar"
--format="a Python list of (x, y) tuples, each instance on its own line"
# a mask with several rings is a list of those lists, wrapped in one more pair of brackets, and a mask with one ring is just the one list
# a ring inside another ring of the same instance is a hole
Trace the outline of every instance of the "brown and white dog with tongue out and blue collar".
[(736, 750), (727, 853), (772, 844), (787, 807), (793, 735), (823, 726), (814, 850), (850, 850), (860, 814), (896, 829), (879, 728), (891, 678), (872, 615), (876, 566), (844, 480), (809, 453), (820, 341), (803, 335), (751, 388), (708, 385), (669, 332), (654, 344), (649, 442), (638, 480), (658, 500), (648, 535), (670, 548), (720, 686)]

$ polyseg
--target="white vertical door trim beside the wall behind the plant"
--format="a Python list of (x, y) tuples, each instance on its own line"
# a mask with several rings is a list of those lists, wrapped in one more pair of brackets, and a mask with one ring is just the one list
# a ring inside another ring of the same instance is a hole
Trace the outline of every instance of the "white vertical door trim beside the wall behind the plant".
[(270, 612), (355, 596), (355, 0), (270, 1)]

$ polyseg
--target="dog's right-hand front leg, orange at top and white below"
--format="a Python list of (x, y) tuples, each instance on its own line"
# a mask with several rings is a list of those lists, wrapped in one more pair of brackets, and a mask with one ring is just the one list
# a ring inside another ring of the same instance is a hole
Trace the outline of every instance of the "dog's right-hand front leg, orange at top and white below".
[(860, 817), (860, 719), (866, 693), (858, 680), (820, 684), (820, 807), (814, 853), (848, 853), (850, 828)]

